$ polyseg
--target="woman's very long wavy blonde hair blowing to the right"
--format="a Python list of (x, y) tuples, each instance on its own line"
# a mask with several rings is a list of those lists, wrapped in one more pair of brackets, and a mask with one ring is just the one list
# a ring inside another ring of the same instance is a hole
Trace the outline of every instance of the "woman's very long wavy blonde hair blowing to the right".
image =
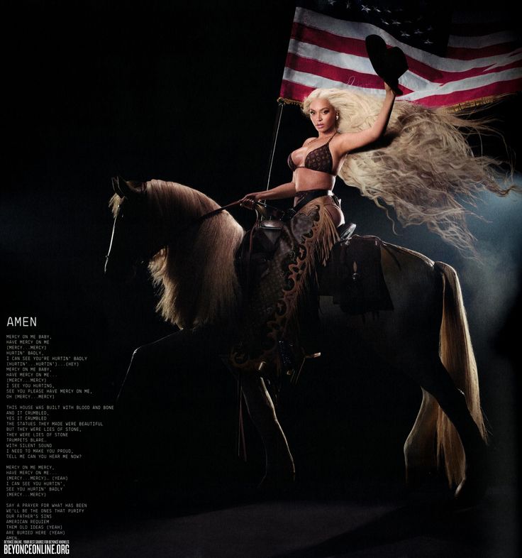
[[(338, 111), (340, 132), (370, 127), (382, 106), (379, 97), (348, 89), (315, 89), (304, 99), (304, 114), (319, 98)], [(392, 207), (402, 226), (426, 224), (448, 244), (475, 253), (466, 222), (474, 212), (463, 203), (473, 207), (481, 191), (504, 196), (513, 188), (496, 160), (473, 155), (467, 135), (484, 131), (490, 131), (484, 121), (399, 100), (381, 140), (350, 153), (339, 176), (378, 207)]]

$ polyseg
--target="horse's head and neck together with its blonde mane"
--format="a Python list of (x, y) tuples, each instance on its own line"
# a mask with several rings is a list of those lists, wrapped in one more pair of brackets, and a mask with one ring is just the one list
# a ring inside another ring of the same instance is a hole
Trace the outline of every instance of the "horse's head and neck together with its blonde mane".
[(106, 275), (128, 280), (138, 263), (148, 262), (153, 282), (162, 285), (158, 309), (168, 321), (194, 327), (235, 319), (235, 253), (244, 231), (231, 214), (216, 212), (213, 199), (177, 182), (118, 177), (113, 189)]

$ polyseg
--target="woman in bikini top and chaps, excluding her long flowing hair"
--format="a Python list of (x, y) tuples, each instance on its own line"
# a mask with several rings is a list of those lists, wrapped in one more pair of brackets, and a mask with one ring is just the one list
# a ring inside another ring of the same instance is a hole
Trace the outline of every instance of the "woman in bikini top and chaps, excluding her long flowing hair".
[(386, 98), (374, 124), (355, 133), (338, 131), (340, 111), (329, 100), (328, 91), (316, 90), (307, 99), (306, 110), (318, 136), (308, 138), (289, 155), (291, 182), (243, 198), (247, 206), (259, 200), (295, 199), (292, 217), (282, 231), (265, 277), (249, 298), (243, 342), (231, 354), (235, 368), (258, 369), (269, 363), (280, 368), (277, 353), (281, 343), (285, 344), (283, 350), (289, 346), (299, 350), (296, 314), (306, 281), (316, 263), (326, 263), (339, 239), (337, 229), (344, 224), (340, 202), (333, 195), (335, 177), (348, 153), (384, 134), (395, 99), (391, 87), (385, 84), (385, 89)]

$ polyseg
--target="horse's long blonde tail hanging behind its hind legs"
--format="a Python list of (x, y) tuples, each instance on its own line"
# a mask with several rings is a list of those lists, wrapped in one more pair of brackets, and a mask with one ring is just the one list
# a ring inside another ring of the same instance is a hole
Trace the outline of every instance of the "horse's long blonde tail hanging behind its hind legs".
[[(484, 440), (487, 430), (480, 407), (479, 378), (470, 338), (470, 329), (462, 302), (457, 272), (448, 264), (436, 262), (443, 278), (443, 319), (440, 326), (440, 360), (458, 389), (464, 393), (467, 407)], [(450, 485), (465, 476), (465, 453), (457, 430), (440, 407), (437, 417), (437, 457), (444, 459)]]

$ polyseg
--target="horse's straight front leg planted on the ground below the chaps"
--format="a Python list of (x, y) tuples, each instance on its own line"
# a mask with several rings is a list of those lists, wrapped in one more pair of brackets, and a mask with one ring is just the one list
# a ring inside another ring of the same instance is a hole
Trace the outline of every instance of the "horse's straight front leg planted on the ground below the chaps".
[(248, 414), (265, 447), (266, 471), (260, 488), (283, 487), (294, 481), (294, 459), (268, 393), (265, 381), (252, 372), (243, 372), (241, 387)]

